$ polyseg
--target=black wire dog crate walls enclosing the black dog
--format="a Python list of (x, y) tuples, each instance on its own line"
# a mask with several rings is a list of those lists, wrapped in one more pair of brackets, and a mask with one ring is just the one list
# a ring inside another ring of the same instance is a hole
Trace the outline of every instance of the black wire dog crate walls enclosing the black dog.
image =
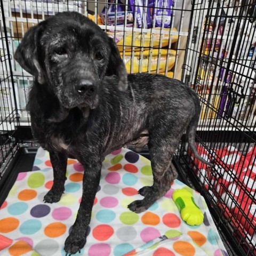
[(26, 111), (33, 77), (13, 53), (29, 27), (62, 11), (113, 37), (128, 73), (181, 79), (198, 93), (197, 148), (215, 167), (194, 159), (185, 141), (175, 166), (207, 199), (230, 255), (255, 255), (255, 0), (1, 0), (0, 205), (37, 146)]

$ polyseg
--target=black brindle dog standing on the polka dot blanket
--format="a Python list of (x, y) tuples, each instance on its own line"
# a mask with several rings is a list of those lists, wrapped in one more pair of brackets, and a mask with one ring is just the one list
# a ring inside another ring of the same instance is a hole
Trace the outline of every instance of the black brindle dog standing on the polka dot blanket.
[(60, 200), (67, 157), (77, 158), (85, 169), (81, 205), (65, 242), (67, 253), (85, 245), (102, 161), (111, 151), (148, 144), (154, 184), (141, 188), (144, 198), (128, 206), (137, 213), (162, 197), (177, 177), (171, 161), (183, 132), (195, 156), (207, 163), (194, 144), (201, 109), (196, 93), (161, 75), (127, 76), (113, 40), (83, 15), (59, 13), (31, 28), (15, 59), (35, 77), (28, 103), (31, 127), (50, 152), (54, 174), (44, 201)]

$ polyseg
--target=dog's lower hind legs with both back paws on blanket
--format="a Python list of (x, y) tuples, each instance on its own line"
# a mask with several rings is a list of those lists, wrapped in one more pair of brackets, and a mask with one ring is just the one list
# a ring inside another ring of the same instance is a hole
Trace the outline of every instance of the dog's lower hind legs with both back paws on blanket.
[(148, 146), (154, 183), (151, 187), (146, 186), (139, 190), (139, 194), (145, 196), (145, 198), (132, 202), (128, 206), (131, 211), (137, 213), (146, 211), (148, 207), (170, 189), (171, 182), (177, 178), (177, 172), (172, 168), (171, 161), (178, 143), (178, 138), (169, 138), (167, 141), (165, 139), (162, 141), (151, 139), (149, 141)]

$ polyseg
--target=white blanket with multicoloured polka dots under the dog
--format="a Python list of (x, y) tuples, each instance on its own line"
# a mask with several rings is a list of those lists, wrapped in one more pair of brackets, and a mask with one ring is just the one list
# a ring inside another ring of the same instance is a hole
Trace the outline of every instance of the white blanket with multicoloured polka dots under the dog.
[[(65, 194), (60, 202), (45, 204), (43, 197), (53, 183), (49, 159), (39, 148), (33, 171), (19, 173), (1, 206), (0, 255), (66, 255), (63, 246), (81, 201), (83, 166), (68, 159)], [(145, 157), (124, 148), (108, 155), (87, 243), (75, 255), (228, 255), (203, 197), (178, 180), (146, 212), (127, 209), (129, 203), (142, 198), (137, 191), (152, 183), (150, 162)], [(193, 193), (204, 213), (202, 225), (189, 226), (181, 220), (172, 199), (178, 188)]]

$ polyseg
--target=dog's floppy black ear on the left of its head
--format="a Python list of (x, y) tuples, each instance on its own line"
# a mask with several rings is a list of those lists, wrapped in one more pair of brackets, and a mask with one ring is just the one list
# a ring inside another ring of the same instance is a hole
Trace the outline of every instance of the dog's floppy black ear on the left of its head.
[(41, 31), (40, 25), (31, 27), (27, 31), (14, 54), (14, 59), (23, 69), (35, 76), (40, 84), (43, 84), (43, 70), (38, 62), (39, 31)]

